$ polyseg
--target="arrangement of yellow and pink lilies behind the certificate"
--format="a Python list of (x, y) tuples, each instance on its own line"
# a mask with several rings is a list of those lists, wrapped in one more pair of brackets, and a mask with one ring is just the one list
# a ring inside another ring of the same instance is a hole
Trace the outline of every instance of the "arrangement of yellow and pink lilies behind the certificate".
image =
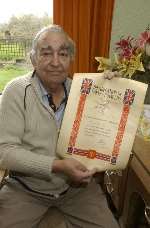
[(99, 62), (98, 71), (116, 70), (126, 78), (131, 78), (136, 70), (145, 71), (143, 64), (148, 66), (150, 63), (149, 27), (137, 39), (131, 36), (121, 37), (115, 45), (112, 59), (95, 57)]

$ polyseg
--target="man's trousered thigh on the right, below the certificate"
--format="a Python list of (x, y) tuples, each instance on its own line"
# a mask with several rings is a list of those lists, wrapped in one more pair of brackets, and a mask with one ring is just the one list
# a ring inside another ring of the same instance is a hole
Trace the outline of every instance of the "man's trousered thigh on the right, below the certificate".
[(87, 187), (71, 189), (65, 197), (60, 208), (72, 224), (86, 228), (119, 227), (108, 208), (105, 194), (95, 181)]

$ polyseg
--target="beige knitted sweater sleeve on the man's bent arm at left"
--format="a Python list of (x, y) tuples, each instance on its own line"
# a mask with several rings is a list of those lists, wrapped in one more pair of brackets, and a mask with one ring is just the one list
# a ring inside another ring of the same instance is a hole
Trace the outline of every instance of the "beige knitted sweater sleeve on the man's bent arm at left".
[[(55, 157), (36, 154), (25, 148), (24, 88), (11, 83), (4, 90), (0, 101), (0, 167), (8, 170), (51, 179), (51, 167)], [(19, 89), (18, 89), (19, 88)]]

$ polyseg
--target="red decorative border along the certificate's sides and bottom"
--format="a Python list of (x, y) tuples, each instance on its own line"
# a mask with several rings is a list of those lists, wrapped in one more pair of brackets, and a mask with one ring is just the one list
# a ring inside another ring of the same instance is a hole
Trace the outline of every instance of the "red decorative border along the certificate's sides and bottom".
[(124, 104), (123, 110), (122, 110), (122, 114), (121, 114), (121, 118), (120, 118), (120, 123), (119, 123), (118, 131), (117, 131), (115, 143), (113, 146), (112, 155), (110, 156), (108, 154), (100, 153), (100, 152), (97, 152), (92, 149), (82, 150), (82, 149), (75, 147), (75, 143), (76, 143), (76, 139), (77, 139), (77, 135), (78, 135), (81, 119), (82, 119), (82, 114), (83, 114), (83, 110), (84, 110), (85, 101), (86, 101), (87, 95), (90, 93), (92, 83), (93, 83), (92, 79), (87, 79), (87, 78), (83, 79), (83, 82), (81, 85), (81, 95), (80, 95), (80, 99), (79, 99), (79, 103), (78, 103), (75, 121), (73, 123), (72, 131), (71, 131), (71, 135), (70, 135), (67, 152), (70, 155), (76, 154), (76, 155), (80, 155), (80, 156), (86, 156), (89, 159), (100, 159), (100, 160), (104, 160), (107, 162), (111, 162), (111, 164), (115, 165), (117, 162), (117, 157), (119, 155), (120, 146), (121, 146), (123, 135), (125, 132), (125, 127), (126, 127), (126, 123), (127, 123), (127, 119), (128, 119), (128, 115), (129, 115), (129, 111), (130, 111), (130, 106), (132, 105), (132, 103), (134, 101), (135, 91), (130, 90), (130, 89), (126, 89), (126, 91), (125, 91), (124, 98), (123, 98), (123, 104)]

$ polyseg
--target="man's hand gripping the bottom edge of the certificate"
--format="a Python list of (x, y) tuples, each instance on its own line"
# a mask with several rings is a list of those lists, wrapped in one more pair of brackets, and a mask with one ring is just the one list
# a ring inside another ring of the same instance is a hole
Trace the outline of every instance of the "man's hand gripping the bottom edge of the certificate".
[(88, 170), (82, 163), (72, 158), (54, 160), (52, 171), (64, 173), (71, 181), (79, 183), (89, 182), (96, 173), (95, 169)]

